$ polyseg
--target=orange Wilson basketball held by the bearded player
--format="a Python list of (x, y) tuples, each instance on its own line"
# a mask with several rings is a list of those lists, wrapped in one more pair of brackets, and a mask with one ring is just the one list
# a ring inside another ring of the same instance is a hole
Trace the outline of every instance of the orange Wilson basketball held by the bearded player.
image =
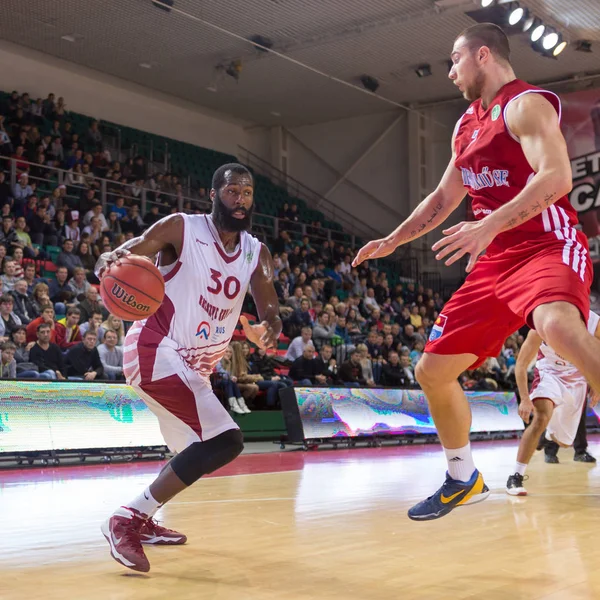
[(130, 254), (102, 276), (100, 296), (111, 314), (124, 321), (140, 321), (162, 304), (165, 281), (150, 259)]

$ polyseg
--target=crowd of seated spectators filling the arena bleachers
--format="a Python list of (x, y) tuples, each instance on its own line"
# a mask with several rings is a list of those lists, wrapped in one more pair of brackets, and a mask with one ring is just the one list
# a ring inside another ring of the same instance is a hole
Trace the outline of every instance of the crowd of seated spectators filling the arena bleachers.
[[(17, 170), (11, 186), (9, 165), (0, 169), (0, 377), (122, 379), (126, 324), (102, 305), (94, 264), (182, 204), (177, 176), (149, 174), (142, 157), (111, 160), (98, 122), (75, 131), (68, 115), (54, 94), (33, 100), (13, 92), (0, 105), (0, 155)], [(66, 170), (60, 185), (49, 167)], [(260, 212), (260, 189), (256, 199)], [(389, 269), (352, 267), (356, 249), (323, 241), (319, 224), (294, 203), (281, 205), (278, 217), (279, 235), (268, 241), (284, 335), (275, 354), (252, 349), (241, 331), (234, 336), (215, 377), (229, 407), (276, 407), (278, 391), (292, 384), (416, 387), (440, 293)], [(497, 358), (462, 376), (463, 386), (510, 386), (521, 343), (509, 338)]]

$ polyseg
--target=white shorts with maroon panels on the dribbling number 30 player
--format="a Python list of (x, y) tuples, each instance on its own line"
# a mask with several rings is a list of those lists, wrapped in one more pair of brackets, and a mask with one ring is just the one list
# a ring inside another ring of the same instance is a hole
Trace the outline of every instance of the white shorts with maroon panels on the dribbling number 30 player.
[[(183, 360), (173, 340), (152, 343), (152, 335), (128, 335), (123, 371), (127, 383), (156, 415), (169, 449), (181, 452), (194, 442), (239, 429), (215, 396), (208, 376)], [(145, 339), (144, 339), (145, 338)]]

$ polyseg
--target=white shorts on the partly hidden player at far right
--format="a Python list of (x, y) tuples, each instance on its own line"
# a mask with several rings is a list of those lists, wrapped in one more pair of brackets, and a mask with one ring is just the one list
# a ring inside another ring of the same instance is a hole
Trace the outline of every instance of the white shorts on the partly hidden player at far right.
[(572, 446), (577, 434), (583, 405), (587, 399), (587, 383), (571, 383), (552, 373), (539, 373), (539, 381), (532, 388), (531, 400), (547, 398), (554, 402), (554, 412), (546, 429), (546, 438), (564, 446)]

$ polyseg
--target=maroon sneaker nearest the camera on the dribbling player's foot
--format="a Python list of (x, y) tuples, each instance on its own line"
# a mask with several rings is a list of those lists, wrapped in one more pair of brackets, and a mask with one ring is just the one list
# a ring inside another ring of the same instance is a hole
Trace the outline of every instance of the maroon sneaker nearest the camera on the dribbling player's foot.
[(145, 520), (145, 515), (137, 510), (121, 506), (102, 524), (112, 557), (124, 567), (142, 573), (150, 570), (140, 536)]

